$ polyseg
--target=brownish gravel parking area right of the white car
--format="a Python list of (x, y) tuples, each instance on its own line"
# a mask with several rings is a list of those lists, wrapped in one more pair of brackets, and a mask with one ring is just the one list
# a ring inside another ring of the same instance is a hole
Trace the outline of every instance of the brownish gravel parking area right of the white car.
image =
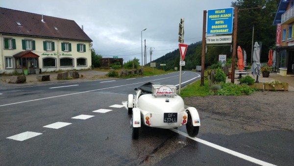
[[(221, 121), (221, 125), (238, 129), (236, 131), (294, 131), (294, 92), (258, 91), (248, 96), (198, 96), (185, 98), (184, 102), (198, 110), (200, 119), (209, 117)], [(230, 131), (227, 134), (237, 133)]]

